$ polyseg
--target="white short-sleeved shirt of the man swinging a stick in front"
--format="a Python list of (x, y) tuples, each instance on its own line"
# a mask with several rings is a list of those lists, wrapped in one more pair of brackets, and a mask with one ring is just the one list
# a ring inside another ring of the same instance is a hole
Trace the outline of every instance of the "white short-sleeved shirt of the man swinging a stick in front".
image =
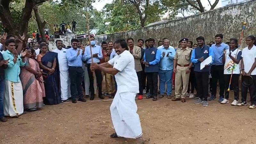
[(135, 71), (134, 58), (125, 50), (120, 55), (109, 60), (108, 63), (120, 72), (115, 75), (117, 92), (139, 92), (139, 81)]

